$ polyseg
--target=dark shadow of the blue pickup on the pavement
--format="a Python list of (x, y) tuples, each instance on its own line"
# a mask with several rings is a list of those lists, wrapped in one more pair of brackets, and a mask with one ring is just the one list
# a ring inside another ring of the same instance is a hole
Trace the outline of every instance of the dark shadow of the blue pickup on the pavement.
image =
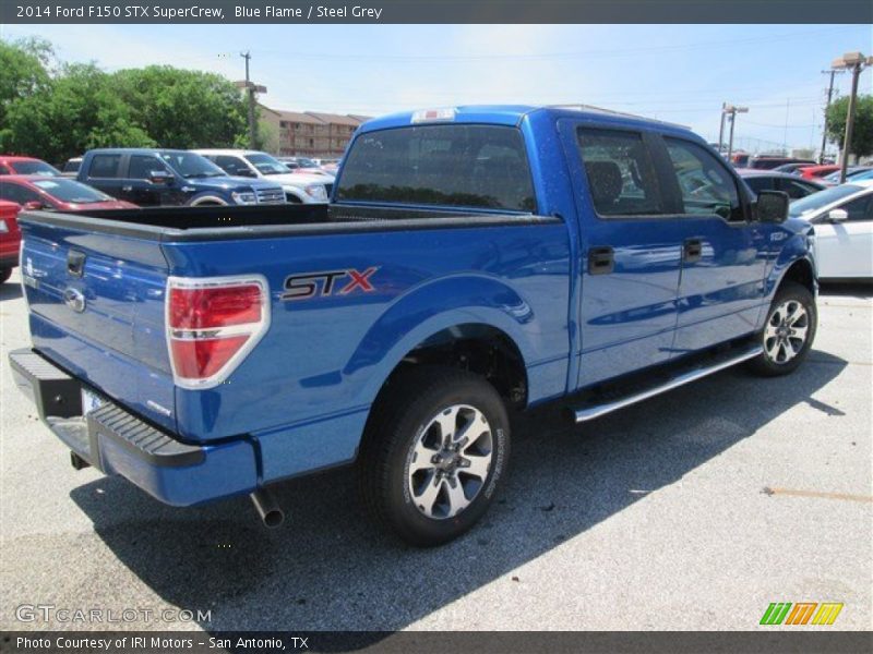
[[(434, 549), (407, 547), (372, 526), (350, 469), (277, 485), (289, 518), (276, 530), (261, 525), (248, 498), (174, 509), (119, 479), (71, 496), (163, 601), (211, 610), (200, 622), (207, 631), (397, 630), (495, 580), (517, 592), (507, 572), (752, 437), (845, 366), (813, 351), (788, 377), (734, 368), (584, 427), (570, 425), (560, 408), (535, 410), (516, 421), (510, 476), (490, 512)], [(823, 402), (810, 405), (828, 413)], [(839, 413), (828, 420), (837, 425)], [(112, 588), (109, 568), (107, 579), (92, 572), (88, 584)]]

